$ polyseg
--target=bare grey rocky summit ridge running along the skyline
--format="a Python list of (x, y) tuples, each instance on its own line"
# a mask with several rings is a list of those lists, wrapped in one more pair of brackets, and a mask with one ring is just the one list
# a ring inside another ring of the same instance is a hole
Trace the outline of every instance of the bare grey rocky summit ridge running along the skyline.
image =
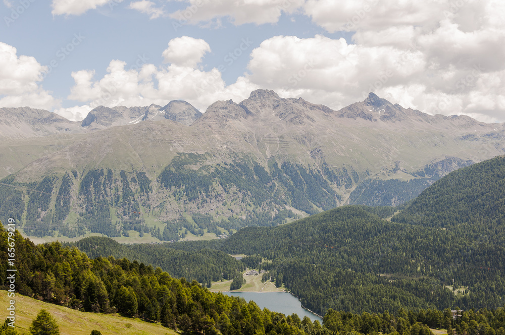
[[(224, 101), (227, 102), (225, 103)], [(307, 111), (319, 110), (326, 115), (334, 115), (338, 118), (362, 119), (371, 122), (391, 121), (395, 123), (401, 121), (424, 121), (425, 123), (433, 125), (439, 122), (457, 121), (460, 125), (467, 124), (468, 126), (482, 126), (484, 124), (468, 116), (429, 115), (412, 108), (403, 108), (398, 104), (392, 104), (388, 100), (378, 97), (372, 92), (369, 93), (368, 97), (363, 101), (350, 104), (339, 110), (333, 110), (325, 105), (308, 102), (301, 97), (298, 99), (281, 98), (274, 91), (258, 89), (252, 91), (248, 98), (239, 103), (235, 103), (231, 100), (216, 101), (207, 107), (206, 113), (208, 111), (216, 113), (216, 109), (225, 108), (227, 104), (240, 107), (243, 111), (235, 109), (234, 111), (230, 111), (231, 114), (222, 114), (221, 116), (225, 118), (225, 121), (237, 119), (238, 117), (247, 119), (255, 115), (260, 116), (264, 114), (265, 110), (270, 110), (274, 114), (280, 111), (280, 118), (284, 118), (290, 123), (297, 124), (304, 123), (307, 120), (314, 121), (311, 116), (308, 116)], [(229, 107), (230, 106), (228, 106), (228, 108)], [(0, 133), (0, 136), (4, 138), (27, 138), (62, 132), (83, 133), (107, 129), (113, 126), (127, 126), (146, 120), (160, 121), (163, 119), (172, 120), (184, 124), (185, 126), (191, 126), (203, 115), (205, 115), (205, 113), (200, 113), (200, 111), (194, 108), (190, 103), (183, 100), (172, 100), (163, 107), (156, 104), (132, 107), (97, 106), (89, 111), (86, 117), (80, 122), (81, 127), (79, 128), (77, 127), (79, 122), (69, 121), (47, 110), (33, 109), (30, 107), (4, 107), (0, 108), (0, 116), (2, 116), (0, 129), (4, 130)], [(216, 117), (219, 115), (219, 113), (216, 114)], [(209, 120), (207, 118), (209, 117), (206, 117), (204, 120)], [(57, 129), (52, 129), (49, 125), (53, 124), (61, 124), (61, 126), (57, 127)], [(494, 125), (497, 127), (501, 125), (499, 128), (504, 127), (504, 124)], [(9, 127), (12, 129), (9, 129)], [(37, 129), (37, 127), (42, 129)]]

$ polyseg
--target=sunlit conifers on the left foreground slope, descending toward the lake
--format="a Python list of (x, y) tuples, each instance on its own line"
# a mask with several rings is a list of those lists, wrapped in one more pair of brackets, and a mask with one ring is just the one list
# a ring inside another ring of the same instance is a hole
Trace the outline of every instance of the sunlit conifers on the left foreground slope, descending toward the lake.
[[(7, 241), (3, 228), (0, 239)], [(73, 308), (79, 308), (80, 304), (90, 305), (93, 310), (97, 308), (92, 307), (93, 304), (98, 306), (110, 299), (110, 311), (117, 309), (125, 315), (161, 321), (185, 334), (239, 335), (266, 333), (265, 330), (271, 335), (304, 334), (298, 324), (290, 321), (291, 317), (287, 319), (283, 314), (261, 310), (254, 302), (247, 303), (241, 298), (211, 293), (196, 281), (176, 280), (160, 268), (125, 258), (90, 260), (77, 249), (62, 248), (59, 243), (35, 246), (18, 232), (15, 239), (19, 248), (16, 260), (20, 264), (17, 285), (23, 288), (20, 293), (47, 302)], [(0, 251), (3, 263), (7, 257), (4, 250)], [(67, 270), (62, 264), (69, 265)], [(32, 275), (26, 275), (25, 271)], [(3, 289), (5, 284), (4, 276)], [(54, 285), (48, 287), (48, 284)], [(52, 290), (50, 294), (47, 294), (48, 289)], [(30, 330), (39, 335), (59, 334), (58, 325), (45, 311), (38, 314)]]

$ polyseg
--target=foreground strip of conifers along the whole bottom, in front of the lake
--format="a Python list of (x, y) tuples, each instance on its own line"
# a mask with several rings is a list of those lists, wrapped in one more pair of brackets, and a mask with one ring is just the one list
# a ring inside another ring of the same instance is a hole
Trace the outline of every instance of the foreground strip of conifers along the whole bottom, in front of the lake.
[[(0, 260), (7, 264), (7, 236), (0, 228)], [(159, 267), (130, 262), (126, 258), (88, 258), (76, 248), (59, 243), (35, 246), (19, 233), (16, 245), (16, 294), (95, 313), (120, 313), (178, 330), (183, 335), (339, 335), (342, 333), (394, 335), (433, 335), (431, 328), (447, 329), (449, 334), (505, 334), (505, 311), (481, 309), (451, 311), (400, 308), (396, 313), (354, 314), (329, 309), (323, 324), (307, 316), (261, 310), (242, 298), (211, 293), (196, 281), (177, 280)], [(4, 271), (5, 268), (2, 269)], [(7, 288), (5, 277), (0, 289)], [(360, 302), (356, 302), (360, 303)], [(63, 313), (65, 313), (63, 311)], [(107, 324), (102, 324), (106, 326)], [(7, 329), (4, 325), (0, 331)]]

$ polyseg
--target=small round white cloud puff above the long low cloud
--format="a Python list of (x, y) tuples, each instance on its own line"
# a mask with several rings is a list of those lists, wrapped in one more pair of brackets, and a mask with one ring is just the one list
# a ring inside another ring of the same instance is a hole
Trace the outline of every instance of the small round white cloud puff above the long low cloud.
[(163, 51), (163, 58), (165, 63), (193, 68), (210, 51), (211, 47), (205, 40), (182, 36), (170, 40), (168, 48)]

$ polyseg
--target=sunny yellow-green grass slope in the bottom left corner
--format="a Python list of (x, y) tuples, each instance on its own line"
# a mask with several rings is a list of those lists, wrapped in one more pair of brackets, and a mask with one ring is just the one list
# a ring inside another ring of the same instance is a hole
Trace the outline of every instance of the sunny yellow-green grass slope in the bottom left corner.
[[(9, 306), (7, 291), (0, 291), (0, 305)], [(61, 335), (89, 335), (96, 329), (103, 335), (173, 335), (177, 332), (159, 323), (145, 322), (140, 319), (122, 317), (118, 314), (98, 314), (79, 312), (63, 306), (48, 304), (39, 300), (16, 294), (16, 329), (20, 334), (28, 334), (28, 329), (41, 309), (55, 317)], [(6, 309), (0, 314), (2, 323), (7, 317)]]

